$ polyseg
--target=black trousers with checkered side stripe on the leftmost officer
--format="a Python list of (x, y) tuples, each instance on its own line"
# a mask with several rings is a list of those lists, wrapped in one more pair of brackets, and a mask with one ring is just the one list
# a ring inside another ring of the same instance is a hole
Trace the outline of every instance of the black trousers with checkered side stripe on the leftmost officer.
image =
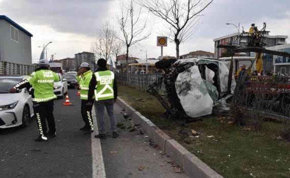
[(35, 103), (33, 105), (34, 113), (36, 114), (37, 125), (41, 136), (45, 136), (47, 132), (46, 121), (49, 125), (50, 134), (55, 134), (55, 118), (53, 115), (54, 111), (54, 100), (45, 102)]

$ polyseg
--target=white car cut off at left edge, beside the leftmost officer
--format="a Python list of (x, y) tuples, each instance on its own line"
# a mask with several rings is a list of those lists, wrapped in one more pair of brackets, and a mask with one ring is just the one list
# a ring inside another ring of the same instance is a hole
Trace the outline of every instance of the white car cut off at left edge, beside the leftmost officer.
[(28, 126), (33, 112), (31, 95), (27, 88), (8, 93), (9, 89), (28, 76), (0, 77), (0, 129)]

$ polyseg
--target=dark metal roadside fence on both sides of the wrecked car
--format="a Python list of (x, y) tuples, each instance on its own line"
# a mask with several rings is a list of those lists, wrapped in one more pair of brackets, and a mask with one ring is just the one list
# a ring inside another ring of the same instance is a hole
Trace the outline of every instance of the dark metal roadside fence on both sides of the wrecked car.
[[(116, 73), (119, 84), (146, 91), (156, 83), (156, 90), (165, 90), (162, 73), (129, 74)], [(272, 114), (289, 118), (290, 115), (290, 77), (248, 76), (237, 81), (232, 98), (234, 106), (250, 109), (253, 119), (261, 114)], [(255, 120), (254, 119), (254, 120)]]

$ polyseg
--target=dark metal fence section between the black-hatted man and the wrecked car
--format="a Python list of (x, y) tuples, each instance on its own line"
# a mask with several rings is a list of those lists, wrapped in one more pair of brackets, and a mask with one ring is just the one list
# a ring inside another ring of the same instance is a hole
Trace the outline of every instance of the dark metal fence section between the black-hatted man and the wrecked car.
[(156, 90), (164, 90), (164, 83), (162, 73), (150, 73), (150, 74), (129, 74), (129, 82), (127, 81), (126, 73), (115, 74), (117, 83), (138, 88), (140, 91), (146, 91), (149, 85), (156, 83)]

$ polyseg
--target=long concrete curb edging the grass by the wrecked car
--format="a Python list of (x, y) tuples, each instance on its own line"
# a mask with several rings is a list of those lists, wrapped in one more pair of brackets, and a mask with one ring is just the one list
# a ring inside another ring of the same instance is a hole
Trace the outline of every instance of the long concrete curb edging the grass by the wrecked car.
[(202, 162), (194, 154), (191, 154), (181, 144), (171, 139), (167, 134), (161, 131), (149, 119), (141, 115), (134, 108), (129, 106), (123, 99), (117, 98), (117, 104), (125, 110), (135, 123), (140, 123), (144, 132), (151, 137), (152, 141), (158, 144), (161, 149), (170, 156), (176, 164), (180, 165), (183, 171), (189, 177), (202, 178), (222, 178), (223, 176), (216, 173), (208, 165)]

